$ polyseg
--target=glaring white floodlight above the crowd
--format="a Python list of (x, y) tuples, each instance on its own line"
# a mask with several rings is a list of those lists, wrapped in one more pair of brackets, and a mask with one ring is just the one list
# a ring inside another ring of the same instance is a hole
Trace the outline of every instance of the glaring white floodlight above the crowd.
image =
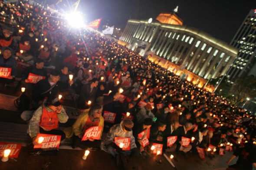
[(79, 12), (74, 11), (74, 12), (68, 13), (66, 15), (66, 19), (67, 19), (69, 25), (74, 28), (80, 28), (80, 27), (84, 26), (84, 23), (83, 23), (84, 21), (83, 21), (82, 15)]

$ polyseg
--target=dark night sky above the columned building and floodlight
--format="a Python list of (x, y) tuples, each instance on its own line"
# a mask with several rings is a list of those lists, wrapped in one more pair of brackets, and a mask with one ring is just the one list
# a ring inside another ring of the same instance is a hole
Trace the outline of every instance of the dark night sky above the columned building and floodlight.
[(124, 29), (129, 18), (155, 19), (177, 5), (184, 25), (230, 43), (249, 10), (256, 9), (256, 0), (81, 0), (79, 10), (88, 21), (102, 18), (101, 26), (108, 22)]

